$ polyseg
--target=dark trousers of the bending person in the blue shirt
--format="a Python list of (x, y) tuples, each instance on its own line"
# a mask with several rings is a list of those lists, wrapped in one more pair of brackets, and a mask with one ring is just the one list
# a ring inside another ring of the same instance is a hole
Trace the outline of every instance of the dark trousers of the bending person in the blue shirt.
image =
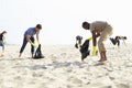
[[(33, 36), (31, 36), (30, 40), (31, 40), (33, 43), (34, 43), (34, 41), (35, 41)], [(20, 50), (20, 53), (22, 53), (22, 52), (24, 51), (26, 44), (28, 44), (28, 41), (26, 41), (26, 37), (24, 37), (24, 38), (23, 38), (22, 47), (21, 47), (21, 50)], [(33, 45), (31, 45), (31, 53), (34, 54), (34, 46), (33, 46)]]

